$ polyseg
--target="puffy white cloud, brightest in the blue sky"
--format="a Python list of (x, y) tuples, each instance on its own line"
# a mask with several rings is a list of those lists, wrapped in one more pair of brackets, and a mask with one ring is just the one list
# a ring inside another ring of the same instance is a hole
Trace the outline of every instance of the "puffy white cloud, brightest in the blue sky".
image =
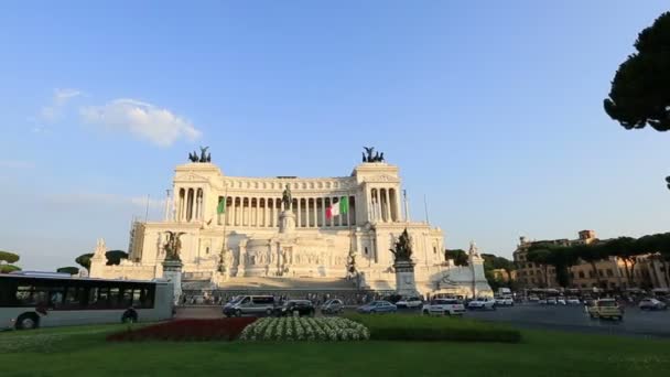
[(161, 147), (169, 147), (181, 138), (194, 141), (202, 134), (190, 121), (168, 109), (128, 98), (83, 107), (79, 115), (86, 123), (130, 132)]

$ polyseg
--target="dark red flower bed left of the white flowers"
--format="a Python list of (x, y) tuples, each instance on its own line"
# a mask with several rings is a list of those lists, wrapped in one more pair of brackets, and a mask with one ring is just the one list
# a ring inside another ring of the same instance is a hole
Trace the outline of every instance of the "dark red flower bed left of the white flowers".
[(255, 317), (177, 320), (107, 336), (108, 341), (231, 341)]

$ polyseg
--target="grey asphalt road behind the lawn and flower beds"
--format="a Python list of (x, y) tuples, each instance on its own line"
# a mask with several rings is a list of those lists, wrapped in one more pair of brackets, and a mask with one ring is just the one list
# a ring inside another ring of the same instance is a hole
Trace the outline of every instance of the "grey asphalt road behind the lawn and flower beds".
[[(419, 315), (415, 310), (400, 310), (399, 314)], [(177, 310), (177, 317), (221, 317), (219, 306), (186, 306)], [(465, 317), (506, 322), (518, 327), (576, 331), (645, 337), (670, 337), (670, 311), (642, 312), (626, 310), (624, 321), (591, 320), (584, 306), (544, 306), (538, 304), (498, 308), (496, 311), (468, 311)]]

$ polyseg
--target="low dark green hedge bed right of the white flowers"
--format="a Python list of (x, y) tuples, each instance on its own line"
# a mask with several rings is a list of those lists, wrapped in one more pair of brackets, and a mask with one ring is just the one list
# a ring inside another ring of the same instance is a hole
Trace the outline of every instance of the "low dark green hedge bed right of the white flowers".
[(460, 317), (418, 315), (347, 315), (370, 330), (374, 341), (453, 341), (518, 343), (521, 333), (502, 324)]

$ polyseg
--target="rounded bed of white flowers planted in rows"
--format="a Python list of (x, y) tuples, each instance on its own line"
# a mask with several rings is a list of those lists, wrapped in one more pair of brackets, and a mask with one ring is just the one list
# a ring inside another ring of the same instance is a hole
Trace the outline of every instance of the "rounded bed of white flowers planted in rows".
[(264, 317), (248, 325), (240, 341), (365, 341), (370, 332), (358, 322), (341, 317)]

